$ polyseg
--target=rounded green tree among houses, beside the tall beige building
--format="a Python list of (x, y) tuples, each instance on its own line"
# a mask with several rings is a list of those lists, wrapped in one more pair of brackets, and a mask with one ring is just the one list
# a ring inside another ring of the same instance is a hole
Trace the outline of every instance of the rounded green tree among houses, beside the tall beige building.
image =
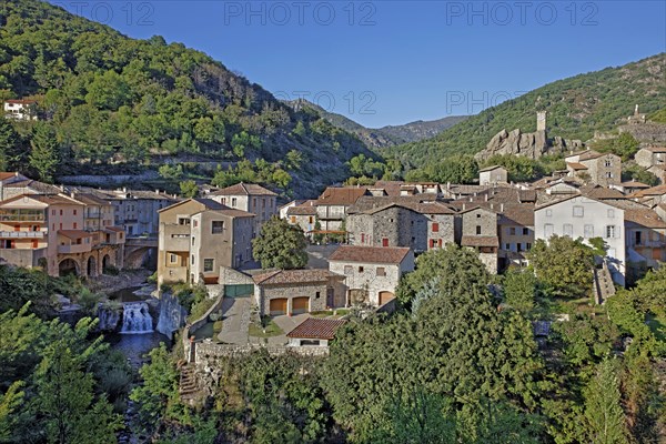
[(307, 264), (303, 231), (290, 225), (285, 220), (272, 216), (261, 228), (259, 236), (252, 240), (254, 259), (262, 269), (301, 269)]

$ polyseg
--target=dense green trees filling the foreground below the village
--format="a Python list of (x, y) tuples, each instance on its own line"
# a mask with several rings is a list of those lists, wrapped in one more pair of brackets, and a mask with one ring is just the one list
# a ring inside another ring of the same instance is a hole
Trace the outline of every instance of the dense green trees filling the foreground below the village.
[[(664, 285), (666, 272), (652, 273), (606, 311), (543, 291), (528, 269), (495, 280), (451, 245), (418, 258), (397, 313), (352, 315), (327, 359), (221, 357), (192, 410), (155, 350), (133, 397), (159, 442), (658, 443), (666, 344), (645, 320), (663, 322), (649, 294)], [(569, 320), (537, 342), (529, 319), (562, 311)]]

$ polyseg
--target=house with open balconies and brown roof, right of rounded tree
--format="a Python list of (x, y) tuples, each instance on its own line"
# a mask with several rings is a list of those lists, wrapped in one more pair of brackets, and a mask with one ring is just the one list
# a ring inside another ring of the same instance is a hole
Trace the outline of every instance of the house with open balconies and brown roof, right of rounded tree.
[(329, 186), (316, 200), (316, 218), (324, 232), (342, 232), (347, 208), (367, 194), (365, 186)]

